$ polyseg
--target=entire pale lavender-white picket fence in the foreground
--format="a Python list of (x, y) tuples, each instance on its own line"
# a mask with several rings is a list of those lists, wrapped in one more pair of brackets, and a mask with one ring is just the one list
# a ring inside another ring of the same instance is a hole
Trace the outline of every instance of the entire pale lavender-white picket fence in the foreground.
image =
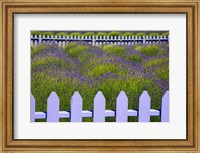
[(115, 117), (116, 122), (127, 122), (129, 116), (138, 116), (138, 122), (150, 122), (150, 116), (160, 116), (161, 122), (169, 122), (169, 91), (161, 100), (159, 110), (151, 109), (151, 98), (147, 91), (139, 97), (138, 110), (128, 109), (128, 97), (121, 91), (116, 99), (116, 110), (105, 110), (106, 99), (101, 91), (94, 98), (93, 110), (82, 110), (82, 97), (75, 92), (70, 100), (70, 111), (59, 111), (59, 97), (52, 92), (47, 99), (47, 112), (35, 112), (35, 99), (31, 94), (30, 119), (46, 119), (47, 122), (59, 122), (60, 118), (70, 118), (71, 122), (82, 122), (82, 118), (91, 117), (93, 122), (105, 122), (105, 117)]

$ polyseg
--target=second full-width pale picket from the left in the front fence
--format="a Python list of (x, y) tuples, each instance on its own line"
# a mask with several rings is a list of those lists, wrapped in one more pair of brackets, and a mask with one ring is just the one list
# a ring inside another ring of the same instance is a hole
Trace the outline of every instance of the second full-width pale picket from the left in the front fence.
[(82, 122), (82, 98), (76, 91), (71, 98), (71, 122)]

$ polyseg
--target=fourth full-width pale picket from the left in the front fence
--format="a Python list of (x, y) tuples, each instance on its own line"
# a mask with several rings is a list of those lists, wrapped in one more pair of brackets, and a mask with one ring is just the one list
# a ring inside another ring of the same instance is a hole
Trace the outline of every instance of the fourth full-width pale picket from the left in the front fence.
[(127, 122), (128, 97), (121, 91), (117, 97), (116, 122)]

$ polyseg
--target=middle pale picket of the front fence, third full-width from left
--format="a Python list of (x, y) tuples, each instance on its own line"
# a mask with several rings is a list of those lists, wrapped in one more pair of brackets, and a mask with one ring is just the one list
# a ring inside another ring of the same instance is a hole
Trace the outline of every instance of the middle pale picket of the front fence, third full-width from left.
[(105, 97), (101, 91), (98, 91), (94, 98), (94, 122), (105, 122)]

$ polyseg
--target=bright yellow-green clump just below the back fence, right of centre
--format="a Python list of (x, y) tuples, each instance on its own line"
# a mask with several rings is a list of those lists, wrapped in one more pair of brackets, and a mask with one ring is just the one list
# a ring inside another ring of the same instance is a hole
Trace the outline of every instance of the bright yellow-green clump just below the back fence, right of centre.
[(116, 56), (123, 56), (125, 54), (125, 48), (123, 46), (105, 45), (103, 46), (103, 50), (108, 53), (113, 53)]

